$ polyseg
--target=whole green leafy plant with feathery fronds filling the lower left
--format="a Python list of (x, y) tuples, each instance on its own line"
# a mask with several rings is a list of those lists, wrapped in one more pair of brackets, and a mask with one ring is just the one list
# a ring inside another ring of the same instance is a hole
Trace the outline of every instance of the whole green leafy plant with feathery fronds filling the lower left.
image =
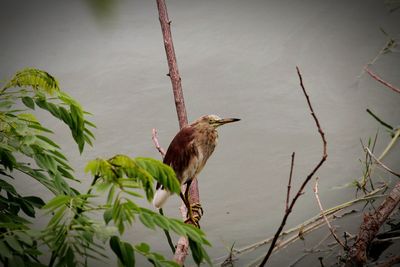
[[(155, 181), (180, 193), (180, 184), (169, 166), (151, 158), (124, 155), (96, 159), (86, 167), (94, 179), (82, 194), (69, 185), (68, 180), (79, 180), (60, 146), (51, 139), (53, 132), (32, 113), (36, 108), (66, 124), (80, 152), (94, 139), (90, 127), (95, 125), (86, 119), (89, 113), (62, 92), (47, 72), (24, 69), (0, 89), (0, 262), (4, 266), (87, 266), (89, 259), (106, 257), (107, 241), (120, 266), (134, 266), (135, 254), (154, 266), (177, 266), (152, 252), (146, 243), (131, 245), (120, 240), (118, 232), (122, 235), (134, 221), (150, 229), (187, 236), (194, 244), (196, 262), (209, 261), (202, 247), (209, 243), (202, 231), (134, 202), (138, 197), (150, 201)], [(22, 196), (11, 182), (17, 177), (35, 179), (55, 197), (45, 203), (37, 196)], [(104, 204), (92, 201), (97, 197), (93, 190), (107, 192)], [(27, 218), (35, 218), (38, 208), (50, 219), (44, 229), (34, 231)], [(93, 219), (99, 213), (104, 222)], [(51, 252), (48, 264), (40, 258), (43, 251)]]

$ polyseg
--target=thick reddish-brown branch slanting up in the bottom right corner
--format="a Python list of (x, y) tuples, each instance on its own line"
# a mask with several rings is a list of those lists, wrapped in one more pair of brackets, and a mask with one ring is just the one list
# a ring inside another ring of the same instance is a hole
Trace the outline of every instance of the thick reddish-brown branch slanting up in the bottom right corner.
[(383, 203), (374, 213), (364, 215), (364, 221), (360, 226), (356, 242), (350, 249), (346, 266), (363, 266), (367, 261), (367, 248), (375, 238), (380, 227), (387, 217), (393, 212), (400, 202), (400, 182), (398, 182)]

